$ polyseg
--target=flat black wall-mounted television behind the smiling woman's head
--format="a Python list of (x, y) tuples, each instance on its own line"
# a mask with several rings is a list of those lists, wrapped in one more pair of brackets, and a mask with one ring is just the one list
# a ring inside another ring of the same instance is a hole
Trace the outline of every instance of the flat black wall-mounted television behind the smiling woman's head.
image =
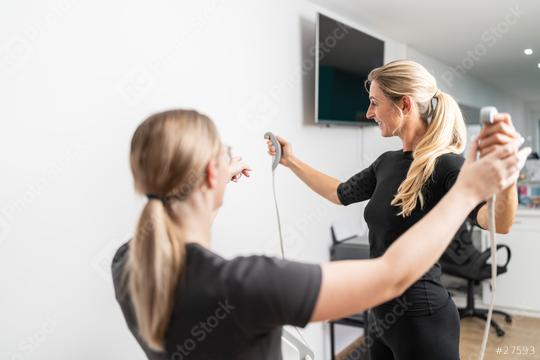
[(315, 122), (376, 125), (364, 81), (384, 64), (384, 41), (318, 13), (316, 46)]

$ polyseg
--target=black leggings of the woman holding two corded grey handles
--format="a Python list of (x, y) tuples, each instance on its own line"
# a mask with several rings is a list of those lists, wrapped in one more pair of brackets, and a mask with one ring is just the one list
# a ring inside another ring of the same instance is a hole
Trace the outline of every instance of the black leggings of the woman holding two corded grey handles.
[(459, 360), (459, 313), (451, 298), (432, 315), (385, 318), (369, 318), (370, 360)]

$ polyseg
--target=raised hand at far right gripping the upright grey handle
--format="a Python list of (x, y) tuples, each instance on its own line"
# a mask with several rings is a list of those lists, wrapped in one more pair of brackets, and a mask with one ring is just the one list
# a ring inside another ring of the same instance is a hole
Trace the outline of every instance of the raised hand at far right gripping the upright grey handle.
[(497, 145), (506, 145), (519, 138), (521, 135), (514, 128), (510, 114), (496, 114), (493, 124), (484, 126), (478, 135), (478, 151), (482, 157), (494, 151)]

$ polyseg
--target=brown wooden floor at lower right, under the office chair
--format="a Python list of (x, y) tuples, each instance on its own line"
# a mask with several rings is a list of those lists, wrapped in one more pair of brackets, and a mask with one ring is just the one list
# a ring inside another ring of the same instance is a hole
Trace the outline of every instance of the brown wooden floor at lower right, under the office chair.
[[(504, 318), (499, 315), (493, 315), (493, 318), (506, 331), (506, 335), (497, 337), (494, 330), (490, 332), (484, 360), (540, 360), (540, 318), (514, 315), (512, 324), (507, 324)], [(461, 320), (461, 339), (459, 346), (461, 360), (478, 359), (478, 352), (480, 350), (482, 336), (484, 335), (484, 324), (485, 322), (480, 319), (469, 318)], [(354, 343), (340, 352), (336, 359), (345, 360), (347, 354), (355, 347), (361, 345), (362, 341), (363, 338), (358, 338)], [(528, 350), (528, 355), (524, 354), (525, 347)], [(500, 349), (499, 354), (497, 354), (497, 349)], [(518, 354), (520, 350), (522, 352), (521, 355)], [(531, 354), (532, 350), (534, 350), (534, 354)], [(512, 354), (512, 352), (514, 353)]]

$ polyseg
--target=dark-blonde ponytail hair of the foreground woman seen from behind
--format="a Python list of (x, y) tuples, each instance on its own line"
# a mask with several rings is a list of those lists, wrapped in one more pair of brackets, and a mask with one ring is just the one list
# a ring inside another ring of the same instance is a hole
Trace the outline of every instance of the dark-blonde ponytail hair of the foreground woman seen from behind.
[(203, 183), (204, 169), (220, 148), (213, 122), (192, 110), (150, 116), (131, 141), (135, 189), (152, 198), (142, 210), (131, 240), (124, 280), (139, 335), (155, 351), (164, 350), (184, 266), (185, 241), (173, 231), (180, 219), (174, 215), (172, 201), (186, 199)]

